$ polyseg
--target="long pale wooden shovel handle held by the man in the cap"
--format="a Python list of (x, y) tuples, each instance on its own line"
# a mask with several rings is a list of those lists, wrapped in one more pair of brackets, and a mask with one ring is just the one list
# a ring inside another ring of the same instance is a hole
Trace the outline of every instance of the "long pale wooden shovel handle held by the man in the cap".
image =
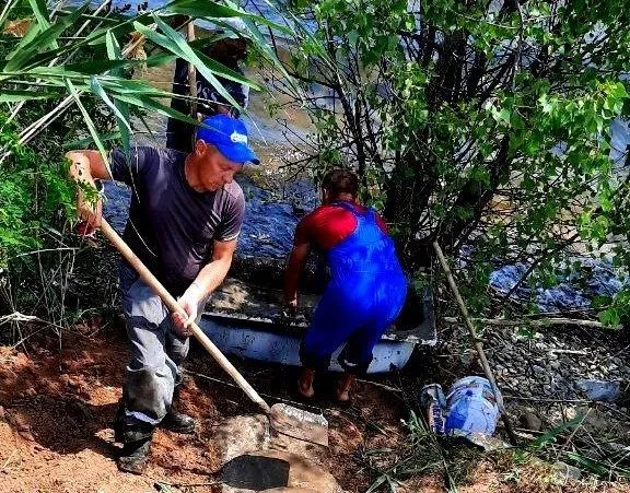
[[(142, 263), (142, 261), (138, 258), (136, 254), (129, 248), (129, 246), (122, 240), (122, 238), (114, 231), (114, 228), (103, 219), (101, 224), (101, 228), (103, 234), (112, 242), (112, 244), (116, 247), (118, 251), (125, 257), (125, 259), (136, 269), (136, 271), (140, 274), (142, 280), (149, 284), (155, 294), (160, 296), (164, 305), (168, 308), (171, 313), (179, 313), (185, 318), (188, 318), (188, 314), (184, 312), (184, 309), (179, 306), (177, 301), (166, 291), (166, 289), (162, 285), (160, 281), (151, 273), (149, 269)], [(225, 357), (225, 355), (214, 345), (214, 343), (208, 339), (208, 336), (203, 333), (203, 331), (199, 328), (195, 321), (190, 324), (190, 328), (192, 329), (192, 334), (197, 338), (197, 340), (201, 343), (206, 351), (210, 353), (210, 355), (214, 359), (217, 363), (234, 379), (234, 382), (243, 389), (247, 397), (256, 402), (265, 413), (270, 412), (269, 404), (262, 400), (262, 398), (258, 395), (256, 390), (247, 383), (247, 380), (241, 375), (241, 373), (234, 367), (232, 363)]]

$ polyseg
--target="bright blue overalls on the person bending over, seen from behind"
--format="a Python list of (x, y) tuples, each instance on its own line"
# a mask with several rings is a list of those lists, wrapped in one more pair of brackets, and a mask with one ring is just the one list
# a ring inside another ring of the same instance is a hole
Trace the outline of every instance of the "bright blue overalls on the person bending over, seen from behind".
[(400, 313), (407, 281), (394, 242), (372, 209), (360, 212), (349, 202), (334, 206), (357, 218), (357, 228), (327, 253), (331, 280), (313, 314), (301, 348), (302, 364), (327, 369), (332, 353), (346, 342), (339, 364), (361, 375), (372, 350)]

